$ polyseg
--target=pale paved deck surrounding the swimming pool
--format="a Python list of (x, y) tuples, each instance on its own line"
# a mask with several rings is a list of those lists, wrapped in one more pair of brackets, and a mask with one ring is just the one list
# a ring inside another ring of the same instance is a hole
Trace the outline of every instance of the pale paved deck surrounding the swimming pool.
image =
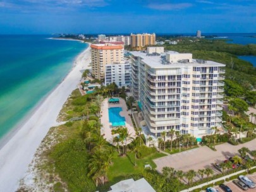
[(120, 112), (120, 116), (125, 117), (125, 127), (128, 129), (130, 135), (135, 138), (136, 133), (135, 129), (133, 128), (133, 123), (131, 122), (131, 117), (128, 115), (130, 114), (130, 111), (127, 111), (127, 106), (125, 103), (125, 100), (119, 98), (119, 104), (109, 104), (108, 100), (110, 98), (104, 99), (102, 106), (101, 106), (101, 124), (102, 124), (102, 129), (101, 129), (101, 134), (104, 135), (104, 138), (109, 143), (113, 143), (113, 138), (114, 136), (111, 134), (111, 123), (109, 122), (109, 108), (111, 107), (121, 107), (122, 111)]

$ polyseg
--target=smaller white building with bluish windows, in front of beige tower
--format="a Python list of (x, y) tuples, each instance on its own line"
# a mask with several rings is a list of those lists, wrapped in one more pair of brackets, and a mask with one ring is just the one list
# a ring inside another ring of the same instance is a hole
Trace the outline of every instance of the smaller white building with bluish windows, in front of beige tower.
[(129, 62), (123, 64), (107, 64), (105, 69), (105, 85), (116, 83), (119, 88), (131, 84), (131, 65)]

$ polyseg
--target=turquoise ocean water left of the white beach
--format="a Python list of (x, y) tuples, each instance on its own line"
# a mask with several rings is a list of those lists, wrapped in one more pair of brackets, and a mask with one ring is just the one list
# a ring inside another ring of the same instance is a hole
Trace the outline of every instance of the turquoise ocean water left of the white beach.
[(49, 35), (0, 35), (0, 138), (64, 79), (87, 44)]

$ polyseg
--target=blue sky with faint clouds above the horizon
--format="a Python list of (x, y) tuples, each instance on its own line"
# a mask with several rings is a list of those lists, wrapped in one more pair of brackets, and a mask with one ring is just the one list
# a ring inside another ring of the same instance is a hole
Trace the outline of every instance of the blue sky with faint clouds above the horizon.
[(0, 34), (255, 33), (256, 0), (0, 0)]

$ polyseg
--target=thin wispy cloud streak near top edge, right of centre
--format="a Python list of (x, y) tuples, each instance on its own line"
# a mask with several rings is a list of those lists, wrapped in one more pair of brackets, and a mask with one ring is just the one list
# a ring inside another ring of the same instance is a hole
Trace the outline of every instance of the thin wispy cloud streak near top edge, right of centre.
[(157, 10), (180, 10), (192, 7), (191, 3), (164, 3), (164, 4), (149, 4), (147, 7)]

